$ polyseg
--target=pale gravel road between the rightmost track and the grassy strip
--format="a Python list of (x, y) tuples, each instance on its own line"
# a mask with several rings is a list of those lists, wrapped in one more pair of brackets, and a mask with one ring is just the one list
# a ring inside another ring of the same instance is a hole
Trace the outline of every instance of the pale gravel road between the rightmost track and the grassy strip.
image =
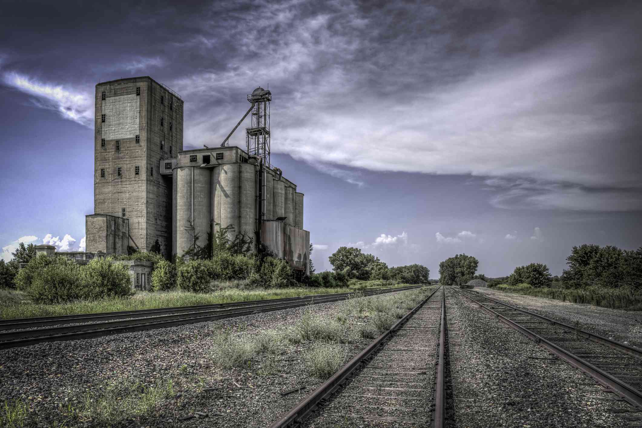
[(622, 311), (587, 304), (561, 302), (535, 296), (514, 295), (493, 289), (476, 290), (506, 304), (575, 325), (612, 340), (642, 348), (642, 311)]

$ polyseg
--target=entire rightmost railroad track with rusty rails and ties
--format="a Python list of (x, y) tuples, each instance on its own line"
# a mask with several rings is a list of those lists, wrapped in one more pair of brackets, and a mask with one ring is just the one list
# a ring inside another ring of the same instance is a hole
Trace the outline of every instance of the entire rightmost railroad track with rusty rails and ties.
[[(454, 287), (453, 287), (454, 289)], [(642, 350), (471, 291), (458, 293), (642, 409)], [(480, 300), (484, 300), (483, 303)]]

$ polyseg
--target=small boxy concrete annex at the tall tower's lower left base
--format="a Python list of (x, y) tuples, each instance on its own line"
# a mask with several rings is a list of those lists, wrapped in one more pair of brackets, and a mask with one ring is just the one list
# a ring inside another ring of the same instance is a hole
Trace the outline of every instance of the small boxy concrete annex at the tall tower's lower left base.
[(85, 251), (126, 254), (129, 241), (129, 219), (108, 214), (85, 216)]

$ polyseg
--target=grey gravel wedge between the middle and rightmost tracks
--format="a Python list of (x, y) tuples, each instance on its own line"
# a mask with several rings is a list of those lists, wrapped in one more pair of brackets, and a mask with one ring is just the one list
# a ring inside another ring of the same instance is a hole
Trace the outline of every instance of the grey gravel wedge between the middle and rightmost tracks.
[(452, 290), (447, 312), (457, 427), (627, 426), (618, 397)]

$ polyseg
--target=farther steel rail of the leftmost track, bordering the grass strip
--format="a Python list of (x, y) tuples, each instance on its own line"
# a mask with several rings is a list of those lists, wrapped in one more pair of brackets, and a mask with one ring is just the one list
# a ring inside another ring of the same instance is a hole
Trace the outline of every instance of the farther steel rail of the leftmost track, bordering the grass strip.
[[(418, 287), (424, 287), (424, 286), (410, 286), (410, 287), (386, 288), (381, 290), (370, 290), (370, 291), (364, 291), (363, 294), (366, 296), (370, 296), (370, 295), (377, 295), (380, 293), (388, 293), (388, 292), (392, 293), (392, 291), (390, 290), (404, 291), (404, 290), (414, 289)], [(314, 300), (318, 298), (327, 298), (330, 296), (349, 296), (349, 295), (354, 295), (354, 291), (351, 291), (349, 293), (333, 293), (329, 295), (284, 297), (280, 299), (249, 300), (247, 302), (229, 302), (229, 303), (212, 304), (212, 305), (191, 305), (191, 306), (166, 307), (166, 308), (159, 308), (159, 309), (139, 309), (135, 311), (98, 312), (96, 314), (71, 314), (71, 315), (47, 316), (47, 317), (38, 317), (38, 318), (12, 318), (10, 320), (0, 320), (0, 330), (27, 329), (30, 327), (44, 327), (46, 325), (107, 321), (107, 320), (123, 319), (123, 318), (136, 318), (136, 317), (142, 318), (147, 316), (153, 316), (153, 314), (179, 314), (184, 312), (206, 311), (209, 309), (216, 309), (216, 308), (238, 307), (238, 306), (247, 307), (252, 305), (276, 304), (280, 302), (292, 302), (296, 300), (306, 300), (306, 299)]]

